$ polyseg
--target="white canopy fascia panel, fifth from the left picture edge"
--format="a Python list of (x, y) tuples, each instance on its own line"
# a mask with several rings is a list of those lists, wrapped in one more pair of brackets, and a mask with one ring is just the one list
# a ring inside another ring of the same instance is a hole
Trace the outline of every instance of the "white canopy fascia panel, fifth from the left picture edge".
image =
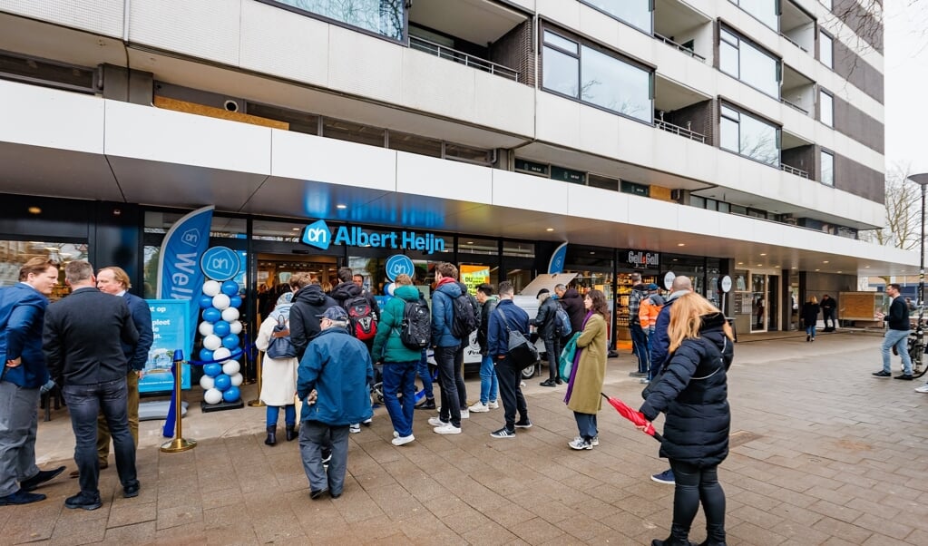
[(493, 204), (550, 215), (568, 214), (569, 188), (574, 184), (499, 169), (491, 169), (491, 173)]

